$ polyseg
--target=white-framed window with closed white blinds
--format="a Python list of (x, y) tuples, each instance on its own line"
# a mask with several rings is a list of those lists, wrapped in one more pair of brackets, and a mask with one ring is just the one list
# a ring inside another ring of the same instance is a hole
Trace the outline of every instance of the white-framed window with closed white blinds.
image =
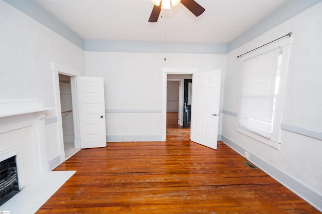
[(289, 50), (279, 46), (241, 62), (236, 131), (277, 149)]

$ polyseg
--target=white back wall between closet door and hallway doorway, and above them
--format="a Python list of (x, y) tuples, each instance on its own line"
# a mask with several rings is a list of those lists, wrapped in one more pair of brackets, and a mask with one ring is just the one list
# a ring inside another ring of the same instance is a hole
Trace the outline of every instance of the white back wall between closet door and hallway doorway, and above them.
[(87, 76), (103, 76), (108, 141), (160, 141), (162, 68), (222, 69), (225, 55), (85, 53)]

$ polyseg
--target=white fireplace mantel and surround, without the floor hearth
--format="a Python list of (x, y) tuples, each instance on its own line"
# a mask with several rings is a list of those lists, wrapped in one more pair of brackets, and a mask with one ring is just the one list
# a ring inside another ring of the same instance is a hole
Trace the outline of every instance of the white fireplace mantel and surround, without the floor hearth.
[(51, 109), (41, 100), (0, 103), (0, 159), (17, 156), (20, 189), (49, 171), (44, 119)]

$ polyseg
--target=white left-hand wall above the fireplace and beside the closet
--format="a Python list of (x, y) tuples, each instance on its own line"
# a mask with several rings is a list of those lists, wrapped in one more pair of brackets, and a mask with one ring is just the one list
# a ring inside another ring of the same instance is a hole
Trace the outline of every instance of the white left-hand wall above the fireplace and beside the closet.
[[(53, 62), (85, 74), (84, 51), (29, 16), (0, 1), (0, 100), (43, 100), (55, 106)], [(49, 166), (60, 163), (55, 110), (47, 113)], [(22, 136), (23, 137), (23, 136)]]

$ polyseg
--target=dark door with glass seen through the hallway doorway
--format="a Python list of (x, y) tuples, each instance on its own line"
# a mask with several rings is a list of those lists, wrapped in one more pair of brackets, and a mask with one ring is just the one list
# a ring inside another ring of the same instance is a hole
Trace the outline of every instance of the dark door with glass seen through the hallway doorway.
[(192, 79), (185, 79), (184, 82), (184, 98), (183, 98), (183, 128), (189, 128), (191, 124), (191, 95), (192, 95)]

